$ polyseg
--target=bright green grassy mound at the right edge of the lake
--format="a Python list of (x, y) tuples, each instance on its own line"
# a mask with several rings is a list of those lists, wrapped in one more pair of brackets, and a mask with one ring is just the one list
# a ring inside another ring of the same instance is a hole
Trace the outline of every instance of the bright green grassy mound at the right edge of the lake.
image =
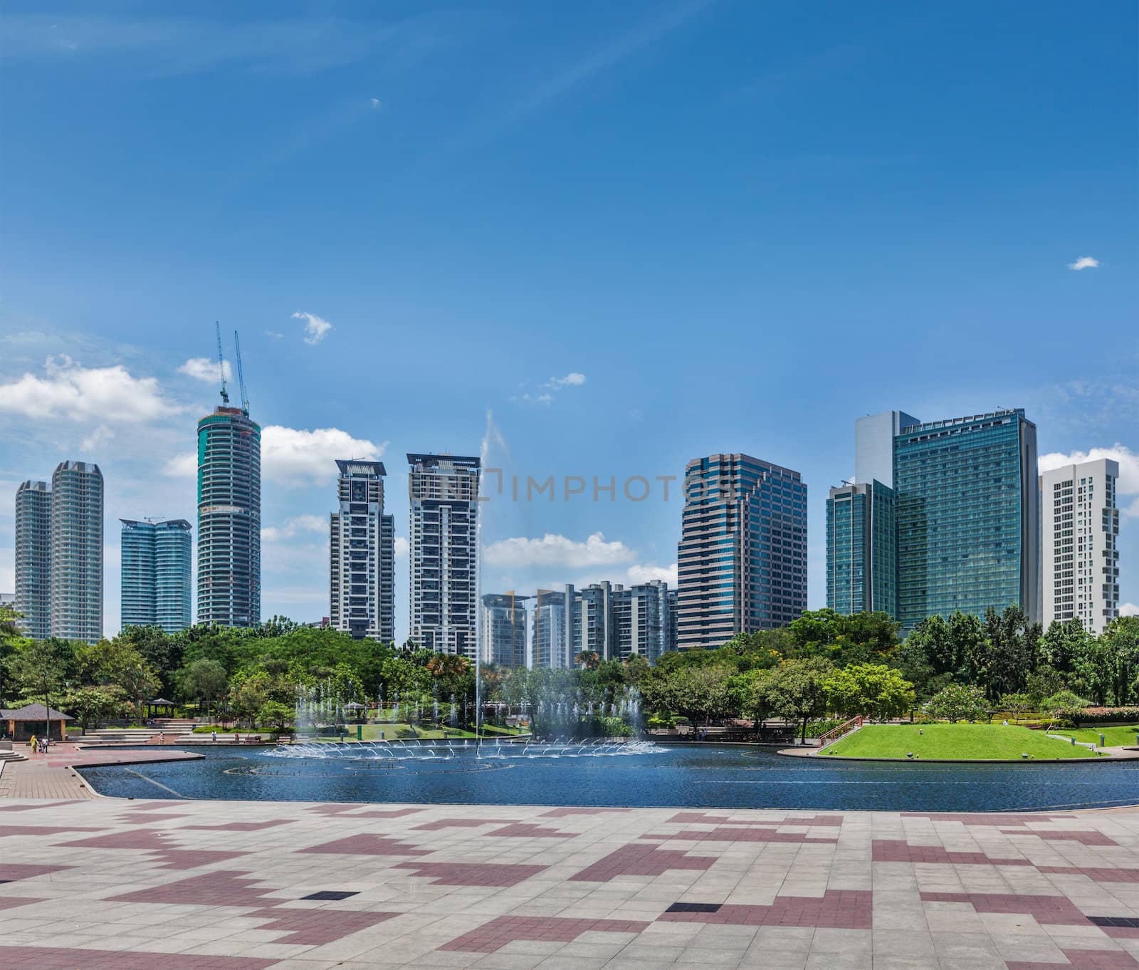
[(823, 755), (847, 758), (1088, 758), (1077, 744), (1009, 724), (872, 724), (841, 737)]

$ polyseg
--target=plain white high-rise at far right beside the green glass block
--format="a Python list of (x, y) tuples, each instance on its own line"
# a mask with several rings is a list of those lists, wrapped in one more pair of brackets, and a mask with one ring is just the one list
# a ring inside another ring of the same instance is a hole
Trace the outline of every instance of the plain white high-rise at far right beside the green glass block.
[(1040, 476), (1046, 629), (1075, 618), (1099, 634), (1120, 614), (1118, 475), (1116, 462), (1100, 458)]

